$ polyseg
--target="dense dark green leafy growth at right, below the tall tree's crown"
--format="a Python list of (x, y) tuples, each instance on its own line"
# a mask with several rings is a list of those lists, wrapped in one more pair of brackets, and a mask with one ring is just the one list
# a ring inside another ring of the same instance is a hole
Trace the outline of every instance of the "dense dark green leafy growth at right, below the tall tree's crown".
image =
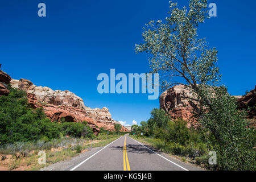
[(237, 110), (236, 98), (220, 89), (201, 123), (218, 140), (218, 167), (222, 170), (255, 170), (255, 129), (247, 128), (245, 113)]

